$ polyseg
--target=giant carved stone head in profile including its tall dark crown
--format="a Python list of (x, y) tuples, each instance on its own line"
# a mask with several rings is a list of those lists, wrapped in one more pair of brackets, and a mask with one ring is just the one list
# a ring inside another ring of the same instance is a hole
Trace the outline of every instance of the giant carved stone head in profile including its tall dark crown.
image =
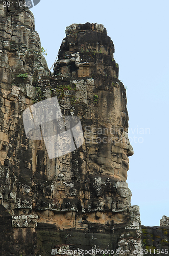
[[(87, 170), (126, 181), (133, 148), (127, 134), (126, 90), (118, 80), (113, 42), (97, 24), (73, 24), (66, 34), (54, 74), (76, 79), (74, 114), (83, 124)], [(62, 102), (65, 111), (65, 99)]]

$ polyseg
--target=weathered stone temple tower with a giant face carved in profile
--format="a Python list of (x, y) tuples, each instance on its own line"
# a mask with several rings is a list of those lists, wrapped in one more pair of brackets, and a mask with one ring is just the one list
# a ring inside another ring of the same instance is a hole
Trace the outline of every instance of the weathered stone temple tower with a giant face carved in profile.
[[(139, 207), (126, 183), (133, 155), (126, 90), (106, 29), (67, 27), (51, 74), (31, 11), (0, 7), (1, 255), (139, 254)], [(27, 138), (22, 120), (51, 97), (63, 116), (80, 118), (84, 134), (81, 147), (53, 159), (43, 139)]]

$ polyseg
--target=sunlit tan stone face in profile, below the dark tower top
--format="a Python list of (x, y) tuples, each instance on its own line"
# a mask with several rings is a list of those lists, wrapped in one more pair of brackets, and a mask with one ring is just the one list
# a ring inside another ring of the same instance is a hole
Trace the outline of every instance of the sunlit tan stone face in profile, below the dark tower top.
[(109, 90), (98, 91), (98, 103), (91, 111), (92, 124), (84, 127), (84, 136), (90, 168), (93, 162), (103, 173), (126, 181), (128, 156), (133, 155), (133, 148), (128, 139), (128, 113), (123, 94), (125, 89), (120, 83)]

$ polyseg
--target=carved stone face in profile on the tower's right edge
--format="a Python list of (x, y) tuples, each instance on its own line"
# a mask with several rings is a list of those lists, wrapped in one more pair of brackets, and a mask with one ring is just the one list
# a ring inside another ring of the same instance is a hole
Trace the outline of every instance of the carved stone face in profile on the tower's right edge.
[[(102, 91), (100, 97), (99, 123), (104, 124), (108, 134), (107, 143), (99, 146), (99, 162), (103, 161), (104, 169), (109, 170), (115, 178), (126, 181), (128, 156), (133, 155), (133, 148), (128, 139), (126, 91), (123, 84), (116, 81), (113, 90)], [(104, 156), (106, 159), (103, 159)]]

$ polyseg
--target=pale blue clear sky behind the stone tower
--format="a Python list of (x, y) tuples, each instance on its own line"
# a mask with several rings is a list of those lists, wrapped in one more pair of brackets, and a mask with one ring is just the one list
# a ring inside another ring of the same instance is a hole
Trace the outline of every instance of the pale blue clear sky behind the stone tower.
[(115, 45), (119, 79), (127, 89), (129, 137), (134, 148), (127, 183), (141, 224), (159, 226), (168, 198), (168, 1), (41, 0), (31, 9), (51, 68), (73, 23), (103, 24)]

